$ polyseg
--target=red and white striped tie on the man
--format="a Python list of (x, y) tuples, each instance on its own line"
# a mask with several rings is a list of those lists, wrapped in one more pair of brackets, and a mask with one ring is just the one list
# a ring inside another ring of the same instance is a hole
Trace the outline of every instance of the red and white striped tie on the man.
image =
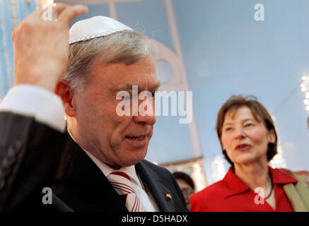
[(107, 176), (110, 184), (114, 187), (120, 196), (124, 196), (124, 200), (127, 209), (130, 212), (146, 212), (143, 204), (136, 196), (134, 189), (132, 188), (132, 181), (128, 174), (125, 172), (112, 172)]

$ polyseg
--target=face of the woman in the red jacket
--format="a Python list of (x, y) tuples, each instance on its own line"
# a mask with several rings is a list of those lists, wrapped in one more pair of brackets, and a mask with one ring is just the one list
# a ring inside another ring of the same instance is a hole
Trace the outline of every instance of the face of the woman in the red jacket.
[(275, 139), (274, 131), (268, 131), (262, 120), (257, 121), (249, 107), (226, 113), (221, 142), (234, 164), (267, 161), (267, 145)]

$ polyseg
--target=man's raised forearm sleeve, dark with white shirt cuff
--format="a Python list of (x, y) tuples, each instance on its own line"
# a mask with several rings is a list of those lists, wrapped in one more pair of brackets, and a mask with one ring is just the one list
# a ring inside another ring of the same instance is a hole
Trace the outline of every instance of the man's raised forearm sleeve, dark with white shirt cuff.
[(0, 105), (0, 211), (42, 206), (66, 138), (59, 97), (16, 88)]

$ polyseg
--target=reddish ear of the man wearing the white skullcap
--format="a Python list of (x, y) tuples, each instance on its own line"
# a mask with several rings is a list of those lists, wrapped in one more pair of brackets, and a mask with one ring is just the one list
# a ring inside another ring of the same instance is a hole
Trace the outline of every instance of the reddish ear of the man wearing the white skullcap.
[(73, 107), (73, 90), (71, 90), (69, 83), (65, 80), (60, 80), (57, 85), (54, 93), (59, 95), (64, 103), (64, 112), (69, 117), (75, 117), (75, 109)]

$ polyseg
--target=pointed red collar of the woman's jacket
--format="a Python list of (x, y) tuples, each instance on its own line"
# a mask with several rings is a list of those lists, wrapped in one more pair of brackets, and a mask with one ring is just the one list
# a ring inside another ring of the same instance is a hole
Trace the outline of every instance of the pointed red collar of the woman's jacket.
[[(272, 175), (272, 182), (274, 184), (290, 184), (298, 182), (290, 175), (281, 172), (279, 169), (273, 169), (268, 167), (270, 174)], [(250, 188), (242, 180), (240, 180), (233, 172), (232, 167), (228, 169), (226, 176), (222, 179), (222, 182), (226, 185), (225, 196), (233, 196), (245, 191), (249, 191)]]

